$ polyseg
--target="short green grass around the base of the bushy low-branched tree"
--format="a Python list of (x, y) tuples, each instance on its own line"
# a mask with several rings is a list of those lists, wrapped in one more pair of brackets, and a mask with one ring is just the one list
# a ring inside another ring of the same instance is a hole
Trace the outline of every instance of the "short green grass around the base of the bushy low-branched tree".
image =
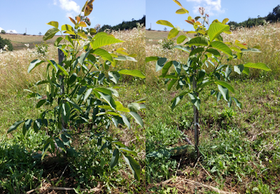
[[(146, 96), (144, 81), (132, 81), (121, 85), (124, 88), (119, 90), (121, 96), (119, 100), (124, 102), (125, 106)], [(43, 88), (36, 86), (31, 86), (29, 89), (38, 93), (43, 92)], [(125, 95), (127, 93), (131, 95)], [(14, 92), (10, 94), (10, 99), (6, 97), (0, 99), (0, 153), (4, 156), (0, 161), (0, 193), (24, 193), (39, 186), (41, 181), (45, 181), (43, 186), (71, 188), (102, 186), (102, 192), (105, 193), (134, 193), (136, 191), (145, 193), (145, 131), (137, 123), (132, 122), (131, 129), (110, 127), (107, 135), (122, 141), (132, 151), (137, 151), (136, 160), (141, 165), (140, 181), (134, 180), (123, 158), (120, 158), (116, 167), (110, 169), (111, 153), (104, 150), (96, 154), (99, 149), (97, 140), (91, 139), (91, 134), (85, 132), (90, 126), (80, 128), (80, 132), (84, 132), (80, 137), (74, 136), (72, 145), (76, 149), (76, 155), (65, 158), (59, 153), (49, 153), (40, 162), (32, 155), (38, 154), (38, 151), (40, 153), (43, 141), (47, 138), (45, 130), (41, 130), (38, 134), (29, 130), (25, 137), (22, 135), (21, 128), (11, 134), (6, 134), (8, 127), (16, 120), (37, 118), (43, 111), (43, 106), (41, 109), (35, 108), (38, 100), (28, 99), (27, 94), (28, 92), (25, 91)], [(144, 118), (145, 112), (142, 111), (140, 114)], [(64, 169), (66, 171), (62, 174)]]

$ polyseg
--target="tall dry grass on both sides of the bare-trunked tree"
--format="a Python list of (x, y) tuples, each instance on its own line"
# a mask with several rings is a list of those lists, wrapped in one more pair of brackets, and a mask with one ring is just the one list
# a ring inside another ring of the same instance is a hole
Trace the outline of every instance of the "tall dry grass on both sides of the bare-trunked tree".
[[(249, 76), (256, 78), (259, 76), (268, 76), (279, 78), (280, 76), (280, 23), (269, 24), (251, 28), (239, 28), (232, 31), (232, 34), (222, 34), (223, 41), (235, 42), (235, 40), (246, 43), (248, 48), (260, 46), (262, 53), (244, 53), (241, 60), (232, 60), (229, 64), (245, 64), (246, 62), (262, 62), (272, 69), (266, 72), (259, 69), (250, 69)], [(235, 52), (234, 52), (235, 53)], [(146, 56), (167, 57), (169, 60), (186, 61), (188, 55), (179, 50), (164, 50), (160, 45), (146, 46)], [(223, 64), (228, 64), (226, 60)], [(211, 71), (211, 65), (208, 71)], [(146, 83), (155, 84), (160, 74), (155, 72), (155, 62), (149, 62), (146, 65), (148, 72)]]

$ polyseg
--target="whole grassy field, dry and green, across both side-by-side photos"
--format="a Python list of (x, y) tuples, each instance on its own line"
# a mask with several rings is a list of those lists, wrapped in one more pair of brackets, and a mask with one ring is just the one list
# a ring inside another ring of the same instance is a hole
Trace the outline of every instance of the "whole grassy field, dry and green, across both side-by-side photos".
[[(200, 95), (202, 154), (198, 161), (195, 148), (185, 140), (188, 137), (194, 142), (190, 99), (184, 97), (172, 111), (170, 101), (181, 91), (167, 90), (165, 81), (155, 72), (155, 62), (145, 64), (148, 56), (186, 61), (188, 55), (183, 51), (163, 49), (158, 44), (159, 40), (167, 39), (168, 33), (145, 29), (113, 32), (116, 38), (125, 41), (122, 46), (127, 53), (137, 54), (138, 61), (119, 62), (117, 67), (139, 69), (146, 74), (146, 80), (124, 76), (123, 88), (118, 89), (118, 100), (124, 106), (147, 97), (147, 109), (139, 113), (145, 127), (132, 123), (130, 130), (127, 127), (108, 130), (113, 138), (137, 152), (140, 181), (133, 179), (123, 159), (114, 169), (109, 169), (111, 153), (104, 151), (94, 155), (96, 142), (90, 140), (87, 133), (74, 139), (77, 157), (48, 155), (43, 161), (32, 158), (40, 152), (47, 129), (38, 134), (29, 130), (26, 136), (22, 135), (22, 129), (12, 134), (6, 132), (15, 120), (36, 118), (45, 109), (44, 106), (36, 109), (38, 100), (27, 98), (28, 92), (24, 90), (38, 93), (45, 90), (35, 85), (45, 78), (45, 65), (31, 74), (27, 74), (27, 68), (38, 57), (57, 61), (57, 49), (50, 46), (45, 57), (26, 47), (1, 53), (0, 193), (25, 193), (35, 188), (43, 193), (43, 187), (95, 188), (95, 193), (280, 193), (279, 23), (239, 29), (223, 36), (227, 40), (239, 39), (248, 46), (260, 46), (262, 53), (244, 54), (243, 60), (235, 61), (237, 64), (263, 62), (272, 71), (253, 70), (248, 76), (232, 74), (230, 85), (236, 88), (233, 96), (243, 104), (243, 109), (235, 105), (228, 108), (224, 100), (217, 102), (216, 97), (209, 94), (210, 87)], [(12, 35), (9, 39), (27, 43), (22, 40), (28, 36), (19, 36)], [(29, 39), (29, 45), (33, 41), (36, 39)], [(113, 49), (116, 46), (106, 47), (106, 50)], [(85, 130), (87, 126), (80, 128), (80, 132)], [(101, 161), (106, 164), (101, 165)], [(75, 193), (73, 190), (53, 191), (66, 192)]]

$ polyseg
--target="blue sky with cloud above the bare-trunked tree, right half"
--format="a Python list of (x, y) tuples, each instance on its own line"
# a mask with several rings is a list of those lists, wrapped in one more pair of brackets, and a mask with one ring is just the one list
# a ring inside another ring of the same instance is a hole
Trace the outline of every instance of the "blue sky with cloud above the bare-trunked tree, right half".
[[(210, 23), (218, 19), (223, 21), (229, 18), (230, 21), (243, 22), (248, 18), (265, 17), (272, 12), (279, 0), (179, 0), (190, 15), (195, 18), (199, 16), (198, 8), (204, 7), (205, 13), (209, 14)], [(165, 26), (158, 25), (158, 20), (167, 20), (172, 25), (179, 26), (181, 29), (193, 30), (185, 20), (188, 14), (176, 14), (180, 7), (172, 0), (147, 0), (146, 1), (146, 29), (152, 26), (152, 29), (163, 30)], [(170, 30), (170, 27), (167, 27)]]

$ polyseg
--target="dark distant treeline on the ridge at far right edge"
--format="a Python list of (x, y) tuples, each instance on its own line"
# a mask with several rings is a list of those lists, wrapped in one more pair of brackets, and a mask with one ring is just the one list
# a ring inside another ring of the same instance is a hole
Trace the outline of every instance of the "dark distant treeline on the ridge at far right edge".
[(277, 22), (280, 21), (280, 5), (276, 6), (272, 12), (263, 18), (258, 16), (258, 18), (248, 18), (248, 20), (244, 22), (228, 22), (228, 25), (233, 27), (253, 27), (257, 25), (264, 25), (267, 22)]

